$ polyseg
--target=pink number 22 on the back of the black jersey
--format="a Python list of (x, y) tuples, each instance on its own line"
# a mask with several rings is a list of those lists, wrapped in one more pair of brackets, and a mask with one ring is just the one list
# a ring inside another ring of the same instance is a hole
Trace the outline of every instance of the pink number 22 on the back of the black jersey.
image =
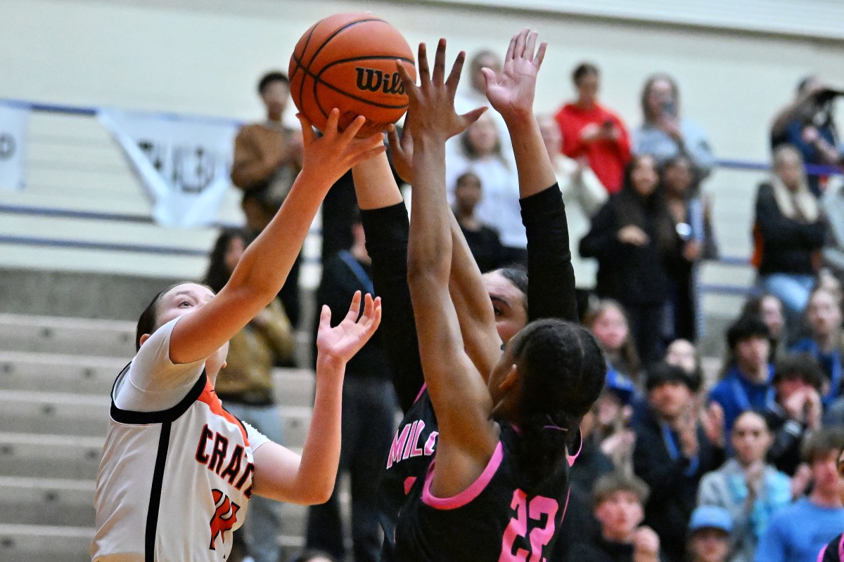
[[(516, 515), (504, 531), (498, 562), (545, 562), (542, 549), (554, 537), (554, 517), (560, 509), (559, 504), (542, 495), (537, 495), (528, 502), (527, 494), (516, 490), (513, 492), (510, 507), (516, 511)], [(544, 516), (547, 516), (545, 525), (539, 527)], [(517, 539), (522, 539), (519, 542), (529, 546), (530, 550), (514, 548)]]

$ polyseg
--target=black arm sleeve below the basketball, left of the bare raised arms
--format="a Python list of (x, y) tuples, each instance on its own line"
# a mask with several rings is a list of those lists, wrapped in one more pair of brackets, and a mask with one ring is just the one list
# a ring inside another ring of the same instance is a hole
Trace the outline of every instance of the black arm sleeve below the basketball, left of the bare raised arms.
[(407, 412), (425, 384), (408, 288), (408, 211), (404, 203), (360, 211), (360, 222), (372, 259), (372, 284), (383, 302), (379, 331), (392, 367), (392, 384), (398, 404)]

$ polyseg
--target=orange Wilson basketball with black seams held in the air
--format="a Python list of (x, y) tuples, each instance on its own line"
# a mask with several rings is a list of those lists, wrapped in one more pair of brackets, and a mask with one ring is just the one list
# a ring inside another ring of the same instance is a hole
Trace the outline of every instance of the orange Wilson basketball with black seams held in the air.
[(342, 130), (357, 115), (366, 123), (359, 137), (384, 131), (408, 109), (396, 61), (416, 69), (410, 45), (397, 29), (369, 13), (337, 13), (311, 26), (290, 57), (293, 103), (320, 131), (328, 113), (340, 110)]

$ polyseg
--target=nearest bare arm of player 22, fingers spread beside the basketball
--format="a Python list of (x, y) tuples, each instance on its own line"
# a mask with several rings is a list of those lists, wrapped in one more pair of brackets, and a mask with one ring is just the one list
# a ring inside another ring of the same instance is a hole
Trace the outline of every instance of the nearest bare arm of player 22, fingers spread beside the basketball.
[(439, 424), (432, 491), (449, 497), (466, 490), (492, 457), (498, 430), (489, 390), (463, 351), (457, 312), (448, 291), (452, 263), (451, 209), (446, 201), (445, 142), (465, 126), (454, 113), (463, 67), (457, 56), (445, 78), (446, 42), (437, 47), (434, 72), (419, 45), (419, 87), (398, 63), (410, 98), (414, 140), (413, 214), (408, 246), (408, 286), (414, 305), (419, 355)]

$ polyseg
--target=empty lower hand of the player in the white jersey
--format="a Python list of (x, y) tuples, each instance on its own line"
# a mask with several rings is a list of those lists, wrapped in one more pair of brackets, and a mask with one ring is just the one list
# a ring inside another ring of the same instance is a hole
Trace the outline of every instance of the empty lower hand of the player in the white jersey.
[(381, 324), (381, 297), (367, 293), (364, 313), (360, 313), (360, 291), (354, 292), (349, 313), (335, 327), (331, 327), (331, 309), (322, 305), (317, 331), (317, 351), (325, 358), (348, 362), (375, 334)]

